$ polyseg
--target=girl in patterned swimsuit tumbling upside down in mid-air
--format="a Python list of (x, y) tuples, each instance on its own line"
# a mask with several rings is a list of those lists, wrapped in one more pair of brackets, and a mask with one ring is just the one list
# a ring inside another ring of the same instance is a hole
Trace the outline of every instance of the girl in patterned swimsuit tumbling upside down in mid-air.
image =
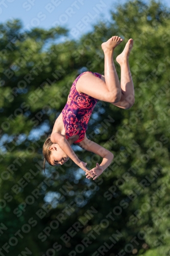
[[(95, 180), (112, 162), (113, 154), (87, 139), (86, 130), (98, 100), (110, 102), (125, 110), (134, 104), (134, 87), (128, 61), (133, 39), (129, 39), (124, 51), (116, 58), (121, 68), (120, 83), (113, 62), (113, 51), (122, 41), (122, 38), (112, 36), (101, 45), (105, 54), (105, 75), (87, 71), (72, 83), (67, 103), (55, 121), (52, 134), (43, 145), (44, 168), (45, 160), (50, 165), (59, 165), (71, 158), (86, 172), (86, 178)], [(102, 163), (96, 163), (94, 168), (88, 170), (87, 163), (81, 161), (72, 150), (72, 143), (98, 154), (103, 158)]]

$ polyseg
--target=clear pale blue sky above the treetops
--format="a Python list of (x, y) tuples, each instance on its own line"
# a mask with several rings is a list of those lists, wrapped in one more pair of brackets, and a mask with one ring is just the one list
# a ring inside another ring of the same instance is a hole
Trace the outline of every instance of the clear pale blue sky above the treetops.
[[(49, 29), (60, 25), (70, 30), (70, 37), (78, 39), (92, 30), (99, 20), (110, 20), (110, 10), (127, 0), (2, 0), (1, 23), (19, 18), (23, 27)], [(148, 1), (147, 1), (148, 2)], [(169, 0), (161, 0), (170, 7)]]

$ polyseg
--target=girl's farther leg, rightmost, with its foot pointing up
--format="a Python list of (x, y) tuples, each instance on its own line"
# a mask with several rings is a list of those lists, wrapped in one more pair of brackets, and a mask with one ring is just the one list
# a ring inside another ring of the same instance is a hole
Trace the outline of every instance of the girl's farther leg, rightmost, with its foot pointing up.
[(129, 55), (133, 47), (133, 39), (129, 39), (124, 51), (117, 56), (116, 60), (121, 69), (121, 89), (122, 97), (119, 102), (112, 104), (120, 106), (120, 108), (129, 109), (134, 104), (134, 86), (129, 67)]

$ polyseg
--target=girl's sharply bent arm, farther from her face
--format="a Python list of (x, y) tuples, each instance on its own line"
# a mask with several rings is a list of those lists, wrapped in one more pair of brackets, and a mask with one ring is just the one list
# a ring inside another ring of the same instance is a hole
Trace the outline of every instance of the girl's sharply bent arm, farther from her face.
[[(86, 135), (85, 135), (84, 140), (77, 144), (80, 147), (82, 147), (83, 149), (93, 152), (94, 154), (97, 154), (103, 158), (103, 161), (100, 165), (98, 163), (96, 164), (96, 167), (98, 167), (98, 169), (100, 169), (101, 174), (111, 164), (113, 157), (114, 157), (113, 154), (110, 151), (106, 150), (106, 148), (104, 148), (103, 146), (100, 146), (99, 144), (87, 139)], [(93, 169), (95, 169), (95, 168), (93, 168)], [(99, 177), (99, 175), (97, 177)], [(94, 179), (96, 179), (97, 177), (95, 177)], [(88, 178), (88, 176), (87, 176), (87, 178)]]

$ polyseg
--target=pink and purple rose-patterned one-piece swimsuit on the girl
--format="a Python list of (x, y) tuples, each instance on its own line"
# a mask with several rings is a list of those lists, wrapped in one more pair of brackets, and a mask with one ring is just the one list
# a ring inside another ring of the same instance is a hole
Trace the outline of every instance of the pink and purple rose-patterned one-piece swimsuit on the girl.
[[(74, 143), (78, 143), (84, 139), (88, 121), (95, 104), (98, 102), (98, 99), (95, 99), (85, 93), (79, 93), (76, 90), (76, 83), (78, 79), (85, 73), (86, 72), (80, 74), (72, 83), (67, 103), (62, 110), (62, 119), (66, 133), (66, 139), (73, 135), (79, 135), (79, 139)], [(102, 75), (99, 73), (90, 73), (94, 74), (96, 77), (102, 77)]]

